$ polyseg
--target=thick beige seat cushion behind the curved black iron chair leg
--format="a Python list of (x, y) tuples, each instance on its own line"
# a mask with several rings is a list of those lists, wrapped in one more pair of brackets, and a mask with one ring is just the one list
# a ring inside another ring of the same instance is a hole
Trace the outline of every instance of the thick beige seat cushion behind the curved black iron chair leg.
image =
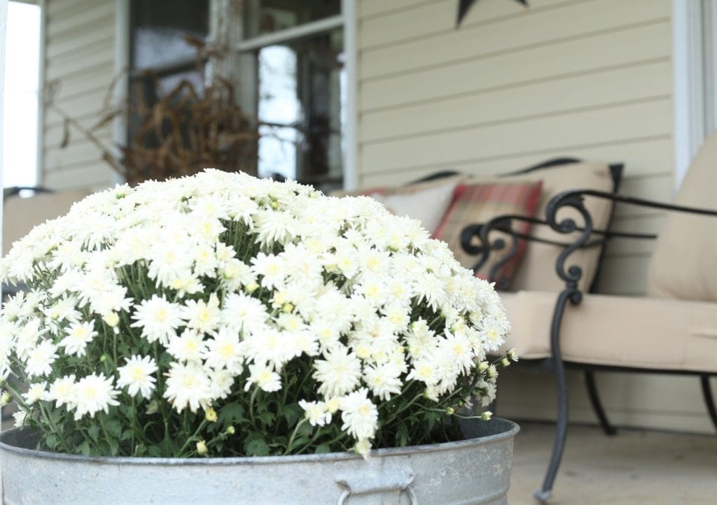
[[(550, 356), (551, 292), (500, 295), (513, 330), (506, 348), (523, 359)], [(717, 303), (586, 294), (568, 304), (561, 351), (569, 362), (717, 372)]]

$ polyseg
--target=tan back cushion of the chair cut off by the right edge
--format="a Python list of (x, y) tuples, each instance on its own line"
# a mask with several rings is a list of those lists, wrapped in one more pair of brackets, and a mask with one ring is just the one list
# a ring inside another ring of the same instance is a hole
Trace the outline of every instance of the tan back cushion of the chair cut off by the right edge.
[[(690, 164), (676, 205), (717, 211), (717, 133)], [(647, 294), (717, 301), (717, 217), (669, 212), (647, 273)]]

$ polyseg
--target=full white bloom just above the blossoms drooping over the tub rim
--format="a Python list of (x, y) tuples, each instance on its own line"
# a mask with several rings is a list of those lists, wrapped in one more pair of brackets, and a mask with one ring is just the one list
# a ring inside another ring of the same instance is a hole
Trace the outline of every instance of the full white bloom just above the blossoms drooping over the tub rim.
[(341, 396), (361, 382), (361, 361), (343, 345), (323, 353), (323, 360), (314, 362), (312, 377), (319, 381), (318, 393), (325, 397)]

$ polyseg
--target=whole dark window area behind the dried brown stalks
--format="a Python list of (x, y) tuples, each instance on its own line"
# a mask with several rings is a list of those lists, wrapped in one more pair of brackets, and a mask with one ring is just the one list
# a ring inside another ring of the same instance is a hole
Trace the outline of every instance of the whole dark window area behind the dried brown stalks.
[[(227, 62), (210, 63), (212, 78), (228, 78), (237, 102), (257, 120), (255, 170), (316, 188), (343, 186), (346, 171), (346, 51), (341, 0), (132, 0), (130, 96), (151, 103), (181, 78), (196, 82), (196, 53), (184, 34), (229, 48)], [(151, 69), (158, 80), (143, 71)], [(131, 120), (128, 135), (137, 131)]]

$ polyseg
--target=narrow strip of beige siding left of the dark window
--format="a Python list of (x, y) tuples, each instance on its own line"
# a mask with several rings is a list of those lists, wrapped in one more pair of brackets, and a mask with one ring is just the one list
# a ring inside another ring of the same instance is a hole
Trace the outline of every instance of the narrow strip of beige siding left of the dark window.
[[(44, 82), (57, 82), (57, 107), (91, 128), (102, 117), (115, 77), (115, 1), (47, 0), (44, 16)], [(60, 148), (63, 122), (52, 107), (45, 111), (40, 183), (56, 190), (110, 186), (112, 170), (77, 130)], [(95, 135), (111, 146), (112, 122)]]

